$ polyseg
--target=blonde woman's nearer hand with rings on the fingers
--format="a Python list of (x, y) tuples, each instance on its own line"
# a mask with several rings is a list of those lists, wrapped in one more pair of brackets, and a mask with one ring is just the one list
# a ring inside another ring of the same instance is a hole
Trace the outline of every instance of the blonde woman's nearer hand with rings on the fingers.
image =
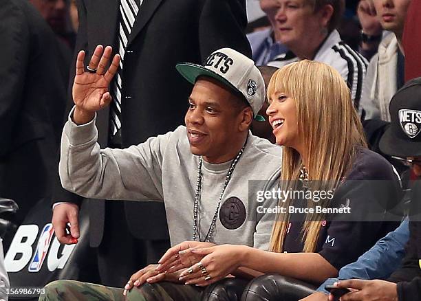
[(241, 265), (245, 246), (216, 245), (202, 249), (191, 249), (193, 254), (204, 256), (199, 263), (184, 270), (180, 280), (186, 285), (206, 286), (228, 276)]

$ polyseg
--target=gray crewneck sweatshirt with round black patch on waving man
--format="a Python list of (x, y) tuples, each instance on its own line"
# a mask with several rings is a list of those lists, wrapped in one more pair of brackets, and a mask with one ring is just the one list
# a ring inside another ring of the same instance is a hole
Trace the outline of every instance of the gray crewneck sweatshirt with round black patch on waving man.
[[(71, 112), (72, 115), (72, 112)], [(171, 245), (193, 238), (193, 204), (199, 157), (190, 151), (186, 127), (129, 148), (100, 149), (95, 120), (65, 124), (61, 140), (63, 187), (87, 198), (164, 201)], [(200, 234), (208, 232), (231, 161), (202, 166)], [(249, 133), (244, 153), (219, 208), (213, 241), (268, 249), (274, 214), (258, 213), (258, 190), (279, 184), (281, 147)], [(252, 181), (249, 185), (249, 180)], [(274, 207), (276, 201), (266, 204)]]

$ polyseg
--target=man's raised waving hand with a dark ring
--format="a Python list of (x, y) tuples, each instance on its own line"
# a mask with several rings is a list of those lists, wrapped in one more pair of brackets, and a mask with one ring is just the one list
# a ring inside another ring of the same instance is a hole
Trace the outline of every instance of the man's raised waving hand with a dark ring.
[(84, 124), (94, 118), (95, 112), (106, 107), (111, 102), (108, 91), (109, 84), (117, 72), (120, 56), (116, 54), (111, 65), (112, 48), (98, 45), (89, 61), (87, 71), (83, 61), (85, 52), (81, 50), (76, 59), (76, 76), (73, 83), (73, 101), (76, 105), (74, 122)]

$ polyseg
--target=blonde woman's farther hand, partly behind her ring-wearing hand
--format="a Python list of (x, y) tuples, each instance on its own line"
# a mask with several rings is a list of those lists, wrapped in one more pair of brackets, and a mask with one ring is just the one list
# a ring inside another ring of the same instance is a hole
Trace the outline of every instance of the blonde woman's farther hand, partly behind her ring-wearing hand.
[(205, 243), (201, 241), (184, 241), (168, 249), (158, 261), (160, 265), (156, 269), (160, 273), (174, 273), (180, 269), (191, 267), (198, 263), (204, 256), (193, 254), (191, 249), (211, 247), (214, 243)]

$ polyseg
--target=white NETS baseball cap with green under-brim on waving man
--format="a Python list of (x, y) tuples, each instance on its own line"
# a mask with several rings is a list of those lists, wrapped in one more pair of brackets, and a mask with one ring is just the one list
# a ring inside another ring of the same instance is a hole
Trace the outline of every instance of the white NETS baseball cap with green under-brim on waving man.
[(255, 120), (263, 121), (258, 115), (265, 100), (265, 82), (255, 62), (234, 49), (218, 49), (208, 58), (204, 66), (193, 63), (179, 63), (175, 66), (180, 74), (195, 84), (197, 77), (209, 76), (241, 93), (252, 108)]

